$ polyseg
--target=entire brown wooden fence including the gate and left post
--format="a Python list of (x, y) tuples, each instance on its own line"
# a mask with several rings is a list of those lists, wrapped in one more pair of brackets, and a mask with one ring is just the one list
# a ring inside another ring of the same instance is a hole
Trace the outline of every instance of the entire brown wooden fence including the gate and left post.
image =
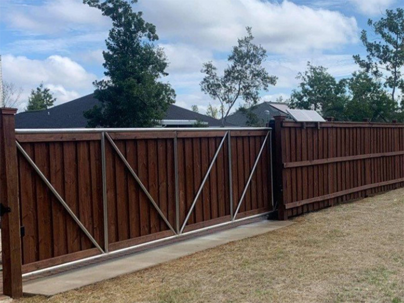
[(13, 297), (22, 275), (43, 268), (404, 186), (402, 124), (277, 117), (274, 136), (270, 128), (15, 130), (15, 112), (0, 109), (3, 281)]

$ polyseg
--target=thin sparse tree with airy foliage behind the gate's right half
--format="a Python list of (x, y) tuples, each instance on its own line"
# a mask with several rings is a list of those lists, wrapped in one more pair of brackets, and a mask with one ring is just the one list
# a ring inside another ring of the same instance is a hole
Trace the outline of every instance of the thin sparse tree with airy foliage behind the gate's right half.
[(200, 82), (203, 92), (214, 100), (219, 100), (221, 106), (222, 127), (230, 110), (240, 97), (249, 106), (257, 104), (260, 90), (268, 90), (269, 85), (275, 85), (277, 77), (270, 76), (262, 67), (267, 52), (261, 45), (252, 43), (254, 37), (251, 28), (247, 27), (247, 35), (238, 39), (238, 45), (233, 47), (227, 58), (229, 66), (222, 76), (212, 61), (204, 64), (201, 72), (205, 73)]

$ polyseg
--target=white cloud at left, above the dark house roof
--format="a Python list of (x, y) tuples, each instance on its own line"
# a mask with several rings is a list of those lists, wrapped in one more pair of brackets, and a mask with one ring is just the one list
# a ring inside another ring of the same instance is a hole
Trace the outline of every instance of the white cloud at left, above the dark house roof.
[(20, 110), (27, 106), (31, 89), (41, 82), (49, 88), (61, 104), (89, 93), (96, 76), (88, 73), (77, 62), (61, 56), (49, 56), (44, 60), (32, 60), (23, 56), (2, 56), (3, 79), (22, 87), (24, 102)]

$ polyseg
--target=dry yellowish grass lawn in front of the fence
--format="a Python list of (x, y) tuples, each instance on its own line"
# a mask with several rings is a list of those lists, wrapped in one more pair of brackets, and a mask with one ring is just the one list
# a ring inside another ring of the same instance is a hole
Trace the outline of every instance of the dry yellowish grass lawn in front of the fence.
[(404, 190), (36, 302), (403, 302)]

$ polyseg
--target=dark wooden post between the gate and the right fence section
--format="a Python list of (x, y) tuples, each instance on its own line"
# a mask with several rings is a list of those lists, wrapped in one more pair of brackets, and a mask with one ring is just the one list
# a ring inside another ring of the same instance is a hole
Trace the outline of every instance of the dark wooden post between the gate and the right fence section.
[(273, 155), (272, 162), (274, 168), (274, 193), (276, 203), (278, 204), (278, 219), (287, 220), (287, 211), (285, 210), (283, 201), (283, 152), (282, 150), (282, 122), (285, 120), (284, 116), (275, 116), (274, 123), (274, 142), (273, 142)]

